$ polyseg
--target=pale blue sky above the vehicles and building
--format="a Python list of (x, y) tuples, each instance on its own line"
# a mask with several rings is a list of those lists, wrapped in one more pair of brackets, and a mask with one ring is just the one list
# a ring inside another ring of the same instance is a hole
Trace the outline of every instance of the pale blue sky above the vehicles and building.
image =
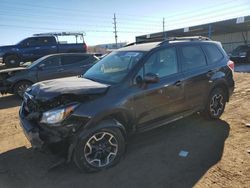
[(0, 0), (0, 45), (35, 33), (84, 31), (87, 45), (250, 15), (250, 0)]

